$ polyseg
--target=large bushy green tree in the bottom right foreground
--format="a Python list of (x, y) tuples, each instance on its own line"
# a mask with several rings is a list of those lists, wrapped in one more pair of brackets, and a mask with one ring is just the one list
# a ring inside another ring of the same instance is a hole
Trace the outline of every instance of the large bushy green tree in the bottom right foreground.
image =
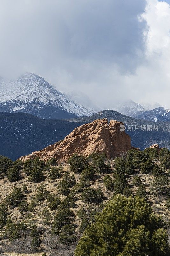
[(168, 256), (164, 223), (144, 199), (117, 195), (79, 240), (75, 256)]

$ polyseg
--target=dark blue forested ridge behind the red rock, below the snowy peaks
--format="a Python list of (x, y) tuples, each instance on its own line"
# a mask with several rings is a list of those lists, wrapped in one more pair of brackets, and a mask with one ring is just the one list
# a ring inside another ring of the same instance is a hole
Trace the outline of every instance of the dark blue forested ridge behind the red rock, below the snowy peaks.
[[(122, 121), (134, 147), (144, 149), (158, 143), (160, 147), (170, 149), (170, 122), (139, 120), (114, 110), (105, 110), (90, 117), (70, 120), (42, 119), (25, 113), (0, 113), (0, 155), (15, 160), (64, 139), (74, 128), (82, 124), (101, 118)], [(139, 127), (139, 131), (134, 131), (135, 125)], [(141, 125), (142, 127), (150, 125), (152, 128), (158, 125), (158, 131), (153, 129), (141, 131)], [(128, 130), (128, 126), (132, 126), (133, 130)]]

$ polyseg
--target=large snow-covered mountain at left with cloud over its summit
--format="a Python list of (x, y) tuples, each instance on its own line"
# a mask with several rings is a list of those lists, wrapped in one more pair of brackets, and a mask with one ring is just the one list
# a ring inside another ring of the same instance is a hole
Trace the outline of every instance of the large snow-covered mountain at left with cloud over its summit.
[(0, 112), (25, 112), (47, 119), (91, 116), (85, 108), (54, 89), (42, 77), (26, 73), (17, 80), (0, 79)]

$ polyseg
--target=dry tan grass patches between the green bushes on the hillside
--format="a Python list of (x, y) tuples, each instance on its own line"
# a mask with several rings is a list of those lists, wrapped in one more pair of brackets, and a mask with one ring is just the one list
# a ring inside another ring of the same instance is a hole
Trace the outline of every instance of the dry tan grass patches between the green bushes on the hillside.
[[(114, 161), (110, 161), (111, 166), (114, 166)], [(69, 166), (65, 163), (63, 164), (64, 167), (64, 171), (68, 171), (69, 170)], [(138, 173), (138, 175), (140, 176), (142, 183), (145, 185), (145, 188), (147, 190), (147, 196), (148, 196), (148, 202), (149, 204), (152, 206), (153, 212), (155, 212), (156, 214), (162, 215), (163, 218), (165, 220), (170, 219), (170, 211), (166, 208), (166, 199), (164, 197), (157, 197), (155, 195), (150, 194), (150, 187), (151, 187), (151, 183), (152, 180), (154, 179), (154, 176), (150, 175), (150, 174), (140, 174), (138, 170), (136, 170), (136, 173)], [(70, 174), (73, 174), (73, 172), (70, 172)], [(107, 173), (108, 174), (108, 173)], [(113, 195), (114, 195), (114, 191), (108, 191), (103, 183), (103, 178), (106, 174), (104, 173), (96, 173), (96, 179), (91, 181), (90, 186), (92, 188), (98, 189), (101, 188), (101, 190), (103, 191), (104, 197), (105, 197), (105, 201), (109, 200)], [(113, 179), (113, 174), (110, 173), (109, 174), (110, 177)], [(135, 174), (134, 174), (135, 175)], [(137, 187), (132, 185), (132, 179), (134, 177), (134, 175), (128, 175), (127, 176), (127, 180), (128, 180), (128, 184), (131, 186), (133, 193), (136, 193)], [(7, 196), (15, 186), (20, 187), (22, 189), (22, 186), (24, 183), (26, 183), (27, 188), (28, 188), (28, 193), (26, 194), (27, 197), (27, 202), (28, 204), (31, 201), (31, 197), (35, 195), (37, 188), (41, 185), (44, 184), (44, 186), (46, 187), (46, 189), (50, 192), (53, 192), (56, 195), (58, 194), (57, 191), (57, 185), (60, 181), (60, 179), (57, 180), (50, 180), (48, 179), (47, 175), (46, 175), (46, 179), (45, 181), (41, 182), (41, 183), (32, 183), (28, 180), (28, 178), (26, 177), (25, 173), (21, 173), (22, 179), (16, 182), (10, 182), (7, 180), (7, 178), (3, 178), (0, 180), (0, 201), (2, 202), (5, 198), (5, 196)], [(78, 182), (80, 180), (81, 174), (74, 174), (75, 178), (76, 178), (76, 182)], [(61, 178), (62, 179), (62, 178)], [(65, 196), (63, 195), (59, 195), (61, 200), (63, 200), (65, 198)], [(76, 203), (76, 207), (72, 208), (71, 210), (74, 212), (75, 218), (73, 219), (72, 223), (76, 224), (77, 228), (76, 230), (78, 230), (78, 226), (81, 223), (81, 219), (79, 219), (77, 217), (77, 212), (80, 209), (80, 207), (83, 205), (84, 208), (87, 210), (87, 212), (89, 212), (90, 210), (97, 208), (98, 205), (96, 203), (84, 203), (81, 201), (81, 193), (77, 193), (77, 201)], [(37, 206), (35, 208), (35, 212), (33, 213), (34, 215), (34, 220), (37, 226), (39, 227), (43, 227), (47, 229), (47, 232), (50, 228), (50, 226), (46, 226), (44, 224), (44, 219), (41, 216), (41, 212), (43, 210), (44, 207), (47, 207), (48, 203), (47, 201), (43, 201), (40, 203), (37, 203)], [(57, 213), (56, 210), (50, 211), (52, 214), (52, 218), (54, 218), (55, 214)], [(10, 217), (13, 220), (14, 223), (18, 223), (21, 220), (26, 220), (26, 214), (22, 215), (19, 212), (18, 207), (14, 208), (14, 209), (9, 209), (9, 213), (10, 213)], [(53, 220), (52, 220), (53, 222)], [(51, 222), (51, 224), (52, 224)], [(43, 235), (41, 237), (43, 239)], [(40, 256), (42, 255), (41, 253), (35, 253), (35, 254), (18, 254), (15, 252), (10, 252), (10, 253), (4, 253), (4, 255), (10, 255), (10, 256)]]

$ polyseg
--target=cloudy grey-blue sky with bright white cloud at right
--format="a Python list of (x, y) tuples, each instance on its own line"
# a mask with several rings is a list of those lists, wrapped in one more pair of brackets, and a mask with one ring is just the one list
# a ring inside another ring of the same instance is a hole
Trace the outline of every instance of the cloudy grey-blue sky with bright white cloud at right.
[(0, 76), (170, 108), (170, 0), (0, 0)]

